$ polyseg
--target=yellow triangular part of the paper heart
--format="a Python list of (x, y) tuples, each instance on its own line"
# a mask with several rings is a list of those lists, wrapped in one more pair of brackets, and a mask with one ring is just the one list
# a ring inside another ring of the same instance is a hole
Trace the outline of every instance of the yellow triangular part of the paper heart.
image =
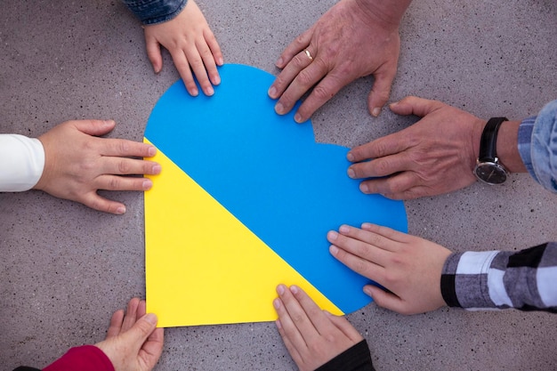
[(281, 283), (343, 314), (160, 149), (149, 160), (162, 166), (145, 192), (147, 311), (157, 327), (275, 320)]

